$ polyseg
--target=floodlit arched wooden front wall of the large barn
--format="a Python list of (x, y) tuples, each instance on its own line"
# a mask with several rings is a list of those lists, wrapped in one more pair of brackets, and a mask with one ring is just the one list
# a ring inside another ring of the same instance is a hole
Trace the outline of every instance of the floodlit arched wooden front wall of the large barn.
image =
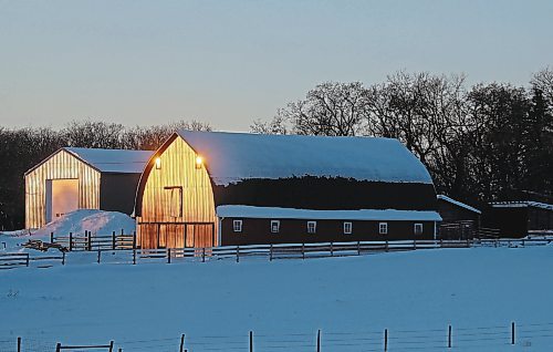
[[(156, 156), (161, 161), (161, 168), (156, 169), (153, 157), (138, 187), (138, 245), (143, 248), (182, 247), (184, 222), (187, 222), (188, 234), (194, 234), (187, 237), (187, 246), (216, 246), (217, 218), (211, 180), (206, 167), (196, 168), (197, 154), (181, 138), (175, 138)], [(206, 162), (209, 167), (209, 161)], [(181, 216), (171, 216), (171, 211), (175, 213), (171, 209), (174, 199), (165, 187), (181, 187)], [(190, 240), (190, 236), (195, 240)]]

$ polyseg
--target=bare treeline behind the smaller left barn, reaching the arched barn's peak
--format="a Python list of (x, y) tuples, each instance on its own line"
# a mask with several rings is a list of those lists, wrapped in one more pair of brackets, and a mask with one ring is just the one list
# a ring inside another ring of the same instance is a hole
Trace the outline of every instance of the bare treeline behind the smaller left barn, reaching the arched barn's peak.
[(156, 149), (177, 130), (211, 131), (198, 121), (149, 127), (105, 122), (72, 122), (64, 128), (0, 126), (0, 230), (24, 227), (23, 174), (61, 147)]

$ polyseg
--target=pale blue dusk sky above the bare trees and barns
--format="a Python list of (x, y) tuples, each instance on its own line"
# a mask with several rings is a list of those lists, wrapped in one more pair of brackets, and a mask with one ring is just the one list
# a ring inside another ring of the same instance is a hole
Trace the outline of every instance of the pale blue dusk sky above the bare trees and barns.
[(326, 81), (398, 70), (526, 85), (551, 0), (0, 0), (0, 126), (198, 120), (248, 131)]

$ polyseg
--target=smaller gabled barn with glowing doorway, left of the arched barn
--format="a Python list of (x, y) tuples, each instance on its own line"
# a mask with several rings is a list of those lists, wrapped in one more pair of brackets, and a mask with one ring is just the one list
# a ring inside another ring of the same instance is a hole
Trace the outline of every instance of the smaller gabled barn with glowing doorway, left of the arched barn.
[(154, 152), (64, 147), (25, 175), (25, 227), (75, 209), (132, 214), (136, 186)]

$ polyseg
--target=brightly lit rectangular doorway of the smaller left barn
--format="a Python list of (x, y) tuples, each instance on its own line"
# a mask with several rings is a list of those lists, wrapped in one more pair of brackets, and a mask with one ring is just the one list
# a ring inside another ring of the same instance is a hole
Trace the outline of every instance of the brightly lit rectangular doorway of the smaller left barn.
[(79, 179), (46, 179), (46, 222), (79, 209)]

